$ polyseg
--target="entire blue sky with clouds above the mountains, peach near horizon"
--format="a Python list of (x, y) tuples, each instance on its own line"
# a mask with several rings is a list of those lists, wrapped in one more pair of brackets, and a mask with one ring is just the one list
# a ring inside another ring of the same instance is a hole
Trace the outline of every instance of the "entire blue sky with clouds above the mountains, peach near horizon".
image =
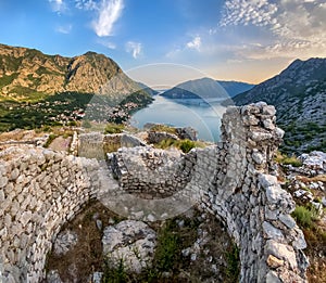
[(325, 0), (0, 0), (0, 42), (103, 53), (151, 87), (259, 83), (296, 59), (326, 56), (325, 15)]

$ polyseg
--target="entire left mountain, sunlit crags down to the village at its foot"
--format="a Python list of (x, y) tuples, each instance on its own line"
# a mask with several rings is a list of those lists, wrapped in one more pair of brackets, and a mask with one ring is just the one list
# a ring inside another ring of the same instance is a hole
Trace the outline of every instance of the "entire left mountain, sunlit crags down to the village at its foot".
[(0, 131), (122, 123), (152, 102), (151, 91), (103, 54), (64, 57), (0, 44)]

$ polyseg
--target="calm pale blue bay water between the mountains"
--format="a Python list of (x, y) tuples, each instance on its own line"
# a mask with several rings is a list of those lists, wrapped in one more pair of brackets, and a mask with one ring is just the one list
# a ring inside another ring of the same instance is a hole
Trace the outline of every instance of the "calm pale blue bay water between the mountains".
[(225, 107), (218, 100), (209, 103), (200, 100), (170, 100), (160, 95), (148, 107), (135, 113), (130, 124), (142, 129), (147, 123), (165, 124), (175, 127), (192, 127), (198, 131), (198, 138), (204, 141), (220, 140), (221, 118)]

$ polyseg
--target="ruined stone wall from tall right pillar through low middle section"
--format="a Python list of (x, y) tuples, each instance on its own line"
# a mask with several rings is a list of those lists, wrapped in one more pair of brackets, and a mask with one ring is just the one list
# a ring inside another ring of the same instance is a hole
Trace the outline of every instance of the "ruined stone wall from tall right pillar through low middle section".
[[(171, 158), (177, 170), (149, 147), (123, 149), (111, 155), (111, 164), (125, 191), (141, 194), (155, 188), (162, 198), (166, 191), (181, 193), (224, 221), (240, 247), (241, 282), (304, 282), (305, 241), (290, 216), (294, 203), (279, 186), (273, 164), (283, 133), (273, 106), (229, 107), (222, 141)], [(180, 182), (185, 176), (188, 181)], [(163, 184), (168, 189), (161, 190)]]

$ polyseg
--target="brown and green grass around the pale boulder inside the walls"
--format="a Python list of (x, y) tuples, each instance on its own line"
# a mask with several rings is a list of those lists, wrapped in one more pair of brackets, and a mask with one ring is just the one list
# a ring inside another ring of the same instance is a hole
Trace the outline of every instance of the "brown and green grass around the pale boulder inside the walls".
[[(158, 232), (158, 239), (161, 240), (161, 249), (158, 244), (153, 266), (138, 275), (124, 274), (125, 281), (114, 281), (121, 276), (115, 274), (115, 270), (108, 270), (105, 267), (105, 259), (102, 255), (102, 231), (96, 226), (95, 215), (102, 221), (103, 228), (109, 226), (110, 218), (115, 219), (116, 222), (123, 220), (101, 203), (91, 202), (62, 229), (75, 231), (78, 235), (78, 243), (64, 256), (49, 254), (46, 268), (58, 270), (63, 282), (89, 282), (89, 275), (95, 271), (104, 271), (105, 275), (109, 274), (104, 282), (186, 283), (212, 282), (212, 279), (214, 282), (237, 282), (238, 280), (238, 261), (234, 260), (231, 239), (214, 216), (208, 216), (208, 219), (199, 221), (199, 213), (193, 209), (191, 213), (187, 211), (186, 215), (176, 217), (178, 221), (184, 220), (181, 227), (177, 224), (176, 219), (150, 223), (150, 227)], [(181, 249), (195, 244), (199, 227), (209, 232), (209, 240), (198, 253), (197, 260), (191, 261), (190, 255), (188, 257), (181, 255)], [(208, 261), (210, 256), (212, 256), (211, 262)], [(217, 273), (212, 271), (213, 263), (217, 267)], [(166, 272), (170, 274), (168, 278), (163, 275)]]

